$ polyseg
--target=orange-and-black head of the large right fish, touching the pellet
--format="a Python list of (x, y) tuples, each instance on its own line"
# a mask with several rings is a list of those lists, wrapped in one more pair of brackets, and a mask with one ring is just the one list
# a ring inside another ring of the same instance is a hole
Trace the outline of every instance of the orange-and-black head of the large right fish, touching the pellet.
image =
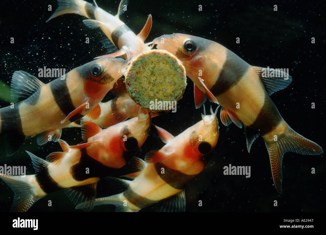
[[(187, 76), (202, 88), (198, 77), (207, 79), (212, 77), (214, 71), (217, 45), (211, 40), (186, 34), (162, 35), (153, 40), (157, 49), (167, 50), (175, 55), (185, 66)], [(214, 56), (214, 59), (212, 58)], [(206, 82), (205, 82), (206, 84)], [(208, 86), (210, 84), (206, 84)], [(203, 88), (201, 89), (203, 90)]]

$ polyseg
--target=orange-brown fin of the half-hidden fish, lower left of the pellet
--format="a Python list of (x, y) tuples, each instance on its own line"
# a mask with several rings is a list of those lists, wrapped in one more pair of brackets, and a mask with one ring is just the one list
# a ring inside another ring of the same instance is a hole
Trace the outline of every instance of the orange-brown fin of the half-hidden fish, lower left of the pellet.
[(101, 127), (108, 128), (117, 123), (126, 121), (127, 118), (131, 115), (130, 110), (126, 111), (125, 107), (116, 105), (114, 101), (111, 104), (111, 106), (112, 106), (112, 109), (110, 110), (110, 112), (108, 112), (107, 114), (104, 114), (103, 120), (100, 123), (98, 123)]

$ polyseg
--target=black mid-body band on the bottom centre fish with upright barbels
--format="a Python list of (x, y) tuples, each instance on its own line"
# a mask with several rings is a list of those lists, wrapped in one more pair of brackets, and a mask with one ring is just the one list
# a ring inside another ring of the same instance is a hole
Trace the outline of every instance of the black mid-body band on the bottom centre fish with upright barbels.
[[(162, 162), (154, 163), (156, 173), (161, 177), (165, 183), (176, 189), (184, 189), (185, 186), (192, 180), (196, 175), (188, 175), (178, 170), (171, 169), (164, 165)], [(161, 168), (164, 168), (164, 174), (161, 173)]]

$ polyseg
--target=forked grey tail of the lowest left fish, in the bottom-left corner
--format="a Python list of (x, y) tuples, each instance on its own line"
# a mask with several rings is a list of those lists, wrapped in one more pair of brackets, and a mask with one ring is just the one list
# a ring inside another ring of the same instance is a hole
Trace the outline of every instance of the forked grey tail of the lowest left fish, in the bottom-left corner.
[(37, 196), (33, 190), (33, 175), (0, 175), (8, 186), (14, 191), (14, 200), (10, 212), (26, 212), (34, 202), (41, 197)]

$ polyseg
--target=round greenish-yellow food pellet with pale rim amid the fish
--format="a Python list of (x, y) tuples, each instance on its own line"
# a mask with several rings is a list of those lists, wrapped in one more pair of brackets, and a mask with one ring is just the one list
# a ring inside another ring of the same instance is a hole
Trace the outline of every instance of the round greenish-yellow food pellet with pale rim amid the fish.
[(141, 107), (153, 111), (170, 109), (167, 104), (176, 104), (187, 85), (185, 67), (166, 50), (150, 50), (138, 55), (128, 67), (125, 82), (130, 97)]

